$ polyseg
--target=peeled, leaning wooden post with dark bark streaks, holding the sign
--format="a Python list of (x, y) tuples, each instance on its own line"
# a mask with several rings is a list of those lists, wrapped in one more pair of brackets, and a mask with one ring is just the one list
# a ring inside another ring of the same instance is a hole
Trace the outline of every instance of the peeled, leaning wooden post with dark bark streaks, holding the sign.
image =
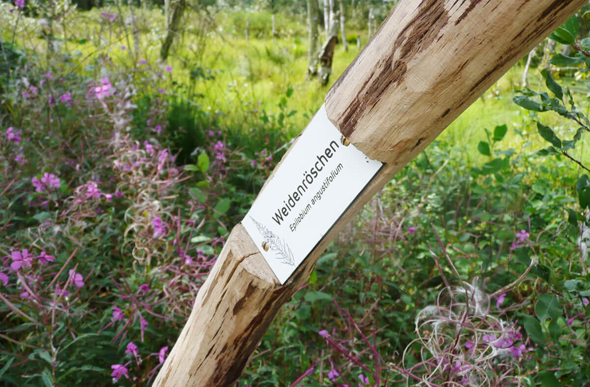
[(278, 309), (306, 282), (340, 229), (479, 95), (585, 3), (401, 0), (326, 95), (330, 120), (385, 167), (285, 285), (244, 227), (235, 226), (154, 385), (235, 383)]

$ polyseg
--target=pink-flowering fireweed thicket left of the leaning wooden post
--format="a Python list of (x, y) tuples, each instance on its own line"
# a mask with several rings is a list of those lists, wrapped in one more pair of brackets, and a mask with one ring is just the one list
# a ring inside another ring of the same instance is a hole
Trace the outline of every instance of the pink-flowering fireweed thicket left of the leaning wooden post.
[[(177, 164), (165, 130), (175, 69), (119, 60), (104, 41), (82, 75), (42, 33), (64, 32), (71, 14), (51, 25), (24, 14), (43, 6), (0, 4), (14, 37), (47, 42), (17, 55), (1, 90), (0, 378), (145, 385), (240, 214), (228, 176), (256, 164), (264, 180), (273, 160), (250, 160), (211, 130), (198, 162)], [(126, 28), (103, 13), (100, 28)]]

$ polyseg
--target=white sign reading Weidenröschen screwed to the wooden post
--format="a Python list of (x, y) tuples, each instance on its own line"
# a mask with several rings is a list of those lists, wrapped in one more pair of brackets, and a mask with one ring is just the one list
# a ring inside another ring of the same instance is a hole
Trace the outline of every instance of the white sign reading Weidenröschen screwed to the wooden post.
[(341, 137), (322, 105), (242, 220), (281, 283), (383, 165)]

